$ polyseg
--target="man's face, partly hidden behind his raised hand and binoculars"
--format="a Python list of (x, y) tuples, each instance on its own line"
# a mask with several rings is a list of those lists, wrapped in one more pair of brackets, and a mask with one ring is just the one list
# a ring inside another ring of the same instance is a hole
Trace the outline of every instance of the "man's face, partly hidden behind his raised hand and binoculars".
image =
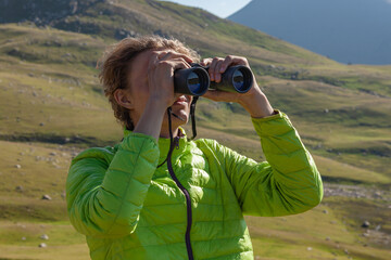
[[(131, 119), (134, 120), (135, 126), (140, 119), (148, 100), (151, 95), (149, 89), (148, 80), (148, 66), (151, 56), (153, 53), (161, 52), (163, 55), (172, 50), (169, 49), (160, 49), (160, 50), (147, 50), (139, 53), (133, 61), (128, 74), (128, 86), (126, 91), (129, 93), (130, 102), (133, 103), (133, 109), (130, 110)], [(186, 125), (189, 119), (190, 104), (192, 101), (191, 95), (185, 95), (180, 93), (175, 93), (175, 102), (172, 105), (172, 112), (180, 117), (172, 117), (173, 128), (176, 128), (180, 125)], [(165, 114), (163, 118), (163, 126), (168, 126), (167, 115)]]

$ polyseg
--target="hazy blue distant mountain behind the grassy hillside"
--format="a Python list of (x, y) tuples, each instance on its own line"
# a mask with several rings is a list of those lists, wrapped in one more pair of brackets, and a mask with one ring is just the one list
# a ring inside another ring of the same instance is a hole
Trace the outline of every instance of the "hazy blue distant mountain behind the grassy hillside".
[(391, 64), (388, 0), (253, 0), (228, 18), (341, 63)]

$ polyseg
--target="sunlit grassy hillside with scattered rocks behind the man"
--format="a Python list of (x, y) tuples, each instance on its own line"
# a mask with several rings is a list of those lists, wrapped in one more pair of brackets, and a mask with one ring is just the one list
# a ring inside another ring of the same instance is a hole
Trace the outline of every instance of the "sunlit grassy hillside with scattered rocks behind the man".
[[(35, 2), (30, 16), (47, 3)], [(88, 1), (59, 15), (56, 2), (35, 24), (18, 22), (27, 12), (0, 24), (0, 259), (88, 259), (66, 217), (67, 168), (81, 150), (121, 141), (96, 63), (106, 46), (147, 32), (175, 36), (203, 57), (247, 56), (314, 155), (329, 193), (304, 214), (247, 217), (257, 259), (391, 258), (391, 66), (342, 65), (168, 2)], [(240, 106), (201, 99), (197, 116), (199, 138), (264, 159)]]

